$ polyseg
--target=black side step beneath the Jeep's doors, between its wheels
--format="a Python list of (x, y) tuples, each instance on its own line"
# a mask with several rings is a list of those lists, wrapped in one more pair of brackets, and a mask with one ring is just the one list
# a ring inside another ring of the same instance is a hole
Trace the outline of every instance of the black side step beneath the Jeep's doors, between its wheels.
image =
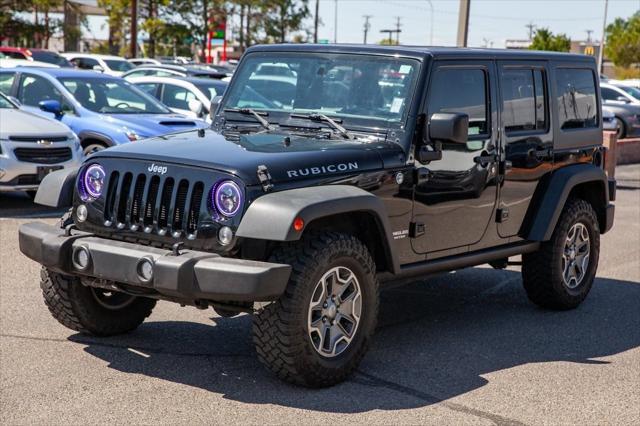
[(441, 259), (427, 260), (424, 262), (410, 263), (400, 266), (399, 274), (381, 274), (380, 281), (394, 281), (397, 279), (411, 278), (420, 275), (429, 275), (443, 271), (453, 271), (469, 266), (482, 265), (492, 260), (505, 259), (523, 253), (531, 253), (538, 250), (540, 242), (524, 242), (508, 244), (505, 246), (478, 250), (471, 253), (458, 254), (443, 257)]

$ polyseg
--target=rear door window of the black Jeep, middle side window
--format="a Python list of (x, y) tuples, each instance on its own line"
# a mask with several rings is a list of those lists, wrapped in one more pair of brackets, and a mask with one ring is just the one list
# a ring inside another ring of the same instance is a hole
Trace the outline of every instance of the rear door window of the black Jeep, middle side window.
[(544, 76), (538, 69), (505, 69), (502, 85), (502, 121), (507, 133), (546, 130)]

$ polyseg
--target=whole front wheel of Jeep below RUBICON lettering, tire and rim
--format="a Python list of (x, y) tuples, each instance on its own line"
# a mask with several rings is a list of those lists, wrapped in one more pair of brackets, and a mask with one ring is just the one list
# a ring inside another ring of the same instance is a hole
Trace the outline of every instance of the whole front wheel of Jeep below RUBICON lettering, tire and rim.
[(378, 281), (371, 254), (353, 236), (323, 233), (278, 248), (272, 259), (293, 271), (285, 293), (254, 316), (258, 359), (294, 384), (344, 381), (376, 326)]

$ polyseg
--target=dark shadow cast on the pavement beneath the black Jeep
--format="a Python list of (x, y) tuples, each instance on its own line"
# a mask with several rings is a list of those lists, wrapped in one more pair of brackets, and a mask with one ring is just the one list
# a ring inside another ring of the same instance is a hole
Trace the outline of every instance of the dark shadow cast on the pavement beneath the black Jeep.
[(121, 372), (146, 375), (252, 404), (333, 413), (408, 409), (488, 383), (483, 376), (529, 363), (603, 364), (640, 345), (640, 283), (597, 279), (572, 311), (531, 304), (519, 272), (472, 268), (382, 293), (379, 329), (360, 368), (330, 389), (280, 382), (257, 361), (251, 318), (213, 326), (147, 322), (121, 337), (71, 341)]

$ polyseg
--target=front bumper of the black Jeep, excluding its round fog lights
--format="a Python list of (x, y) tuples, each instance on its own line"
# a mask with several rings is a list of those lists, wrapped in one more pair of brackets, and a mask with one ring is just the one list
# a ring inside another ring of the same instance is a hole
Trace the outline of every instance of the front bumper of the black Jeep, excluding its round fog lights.
[[(289, 265), (192, 250), (175, 255), (170, 250), (84, 232), (65, 235), (64, 230), (41, 222), (20, 226), (19, 242), (23, 254), (57, 272), (125, 284), (188, 304), (199, 300), (275, 300), (284, 292), (291, 274)], [(84, 269), (74, 260), (74, 254), (82, 249), (89, 253), (89, 263)], [(140, 274), (145, 259), (153, 265), (153, 275), (148, 281)]]

